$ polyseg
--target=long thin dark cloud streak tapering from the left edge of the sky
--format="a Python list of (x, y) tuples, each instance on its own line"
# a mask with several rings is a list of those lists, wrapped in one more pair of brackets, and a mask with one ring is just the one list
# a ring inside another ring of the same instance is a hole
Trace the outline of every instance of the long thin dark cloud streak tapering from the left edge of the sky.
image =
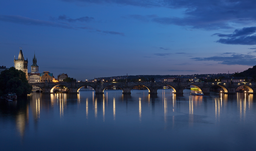
[(60, 27), (60, 28), (74, 29), (71, 26), (62, 25), (60, 23), (38, 20), (38, 19), (31, 19), (28, 17), (22, 17), (22, 16), (18, 16), (18, 15), (0, 15), (0, 21), (25, 24), (25, 25), (36, 25), (36, 26), (48, 26), (48, 27)]

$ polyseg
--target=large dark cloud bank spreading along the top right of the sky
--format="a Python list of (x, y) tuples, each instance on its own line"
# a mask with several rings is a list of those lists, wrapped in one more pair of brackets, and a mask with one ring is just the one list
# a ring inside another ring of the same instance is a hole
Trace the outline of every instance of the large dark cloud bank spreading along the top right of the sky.
[(141, 7), (167, 7), (171, 9), (185, 9), (183, 17), (168, 16), (149, 17), (133, 15), (134, 19), (152, 21), (159, 24), (174, 24), (195, 29), (231, 29), (233, 25), (249, 25), (256, 21), (256, 1), (253, 0), (150, 0), (150, 1), (127, 1), (127, 0), (66, 0), (87, 3), (116, 3)]

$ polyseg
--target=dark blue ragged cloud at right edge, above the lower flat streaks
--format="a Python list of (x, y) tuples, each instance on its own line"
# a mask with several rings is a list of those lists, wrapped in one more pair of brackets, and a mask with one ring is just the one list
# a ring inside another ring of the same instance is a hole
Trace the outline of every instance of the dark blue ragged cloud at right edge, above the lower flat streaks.
[(245, 27), (234, 30), (233, 34), (214, 34), (219, 37), (227, 37), (226, 39), (219, 39), (216, 42), (222, 44), (232, 45), (255, 45), (256, 35), (251, 35), (256, 32), (256, 27)]

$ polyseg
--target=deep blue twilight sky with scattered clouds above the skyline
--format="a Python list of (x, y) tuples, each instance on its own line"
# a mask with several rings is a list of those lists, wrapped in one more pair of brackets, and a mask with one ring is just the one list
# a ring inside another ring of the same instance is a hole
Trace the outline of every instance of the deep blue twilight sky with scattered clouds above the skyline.
[[(22, 47), (39, 72), (77, 80), (234, 73), (256, 65), (255, 0), (0, 2), (1, 66)], [(28, 69), (30, 71), (30, 68)]]

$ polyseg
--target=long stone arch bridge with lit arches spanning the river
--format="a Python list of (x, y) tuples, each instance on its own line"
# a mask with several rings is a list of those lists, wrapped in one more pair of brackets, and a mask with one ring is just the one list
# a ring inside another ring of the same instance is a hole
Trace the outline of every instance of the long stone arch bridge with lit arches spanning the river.
[(53, 90), (58, 85), (64, 85), (69, 89), (69, 93), (79, 93), (79, 89), (83, 86), (90, 86), (95, 90), (95, 94), (104, 94), (104, 90), (108, 86), (118, 86), (123, 90), (123, 94), (131, 94), (131, 89), (138, 85), (143, 85), (148, 89), (149, 94), (157, 94), (157, 90), (163, 86), (173, 88), (175, 94), (183, 94), (185, 87), (194, 85), (204, 94), (209, 94), (213, 86), (220, 86), (226, 94), (236, 93), (239, 86), (245, 86), (249, 93), (256, 94), (255, 82), (44, 82), (44, 83), (29, 83), (31, 86), (38, 86), (43, 93), (53, 93)]

